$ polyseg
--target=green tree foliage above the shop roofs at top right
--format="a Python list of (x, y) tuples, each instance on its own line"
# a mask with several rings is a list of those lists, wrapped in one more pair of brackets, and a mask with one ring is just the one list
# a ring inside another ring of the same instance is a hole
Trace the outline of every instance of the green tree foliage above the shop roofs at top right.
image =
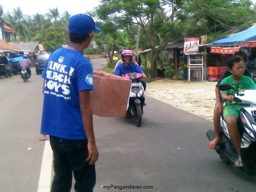
[(255, 22), (250, 0), (186, 0), (179, 12), (186, 35), (208, 35), (210, 41), (234, 27), (245, 29)]

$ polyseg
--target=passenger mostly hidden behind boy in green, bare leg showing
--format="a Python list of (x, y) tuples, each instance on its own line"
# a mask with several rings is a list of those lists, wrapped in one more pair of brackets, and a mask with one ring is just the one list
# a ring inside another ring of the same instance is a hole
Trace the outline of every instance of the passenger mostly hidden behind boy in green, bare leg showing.
[[(247, 54), (244, 51), (235, 52), (234, 55), (240, 56), (244, 63), (244, 66), (246, 65)], [(221, 84), (221, 81), (223, 79), (225, 79), (226, 77), (231, 76), (231, 75), (232, 75), (232, 73), (230, 73), (229, 70), (225, 71), (223, 76), (218, 80), (218, 83), (216, 84), (216, 87), (215, 87), (216, 105), (215, 105), (214, 114), (213, 114), (213, 126), (214, 126), (214, 132), (215, 132), (215, 139), (212, 141), (209, 141), (207, 146), (210, 149), (215, 149), (221, 139), (220, 117), (221, 117), (221, 113), (223, 110), (223, 102), (221, 100), (221, 93), (220, 93), (220, 89), (218, 88), (218, 86)], [(244, 76), (250, 77), (250, 71), (245, 69)]]

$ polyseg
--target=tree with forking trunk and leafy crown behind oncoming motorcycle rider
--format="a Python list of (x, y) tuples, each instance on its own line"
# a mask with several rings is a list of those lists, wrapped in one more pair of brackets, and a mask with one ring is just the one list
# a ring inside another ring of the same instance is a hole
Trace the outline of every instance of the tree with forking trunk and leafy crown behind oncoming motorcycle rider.
[(99, 18), (112, 20), (125, 25), (140, 25), (149, 43), (151, 51), (151, 78), (157, 77), (157, 56), (171, 39), (179, 32), (179, 24), (173, 13), (177, 9), (176, 1), (140, 0), (117, 1), (102, 0), (97, 13)]

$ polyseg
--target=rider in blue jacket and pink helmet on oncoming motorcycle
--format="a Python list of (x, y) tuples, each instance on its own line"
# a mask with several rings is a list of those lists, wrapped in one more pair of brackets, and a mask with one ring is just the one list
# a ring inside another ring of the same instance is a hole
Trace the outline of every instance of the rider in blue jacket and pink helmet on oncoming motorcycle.
[[(133, 52), (131, 50), (128, 50), (128, 49), (123, 50), (121, 58), (122, 58), (123, 63), (116, 67), (116, 69), (114, 71), (115, 76), (121, 76), (126, 73), (135, 73), (136, 72), (136, 73), (141, 73), (144, 78), (147, 77), (145, 75), (145, 73), (143, 72), (142, 68), (139, 65), (134, 64), (132, 62)], [(139, 81), (142, 83), (144, 90), (146, 90), (145, 81), (142, 81), (141, 79)]]

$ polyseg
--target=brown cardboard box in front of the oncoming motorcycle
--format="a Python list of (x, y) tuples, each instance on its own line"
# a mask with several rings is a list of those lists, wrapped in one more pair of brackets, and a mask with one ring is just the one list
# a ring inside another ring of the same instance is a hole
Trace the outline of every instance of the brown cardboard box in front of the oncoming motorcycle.
[(93, 72), (94, 90), (90, 91), (94, 115), (125, 116), (131, 90), (131, 80), (104, 72)]

